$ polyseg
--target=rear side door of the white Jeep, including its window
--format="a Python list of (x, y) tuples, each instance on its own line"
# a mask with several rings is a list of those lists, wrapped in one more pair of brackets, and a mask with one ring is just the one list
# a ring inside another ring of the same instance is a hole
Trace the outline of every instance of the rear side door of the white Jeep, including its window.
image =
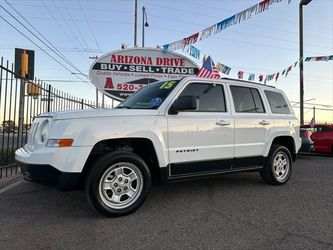
[(262, 94), (255, 87), (230, 85), (235, 120), (234, 168), (259, 165), (268, 130), (273, 126), (264, 107)]

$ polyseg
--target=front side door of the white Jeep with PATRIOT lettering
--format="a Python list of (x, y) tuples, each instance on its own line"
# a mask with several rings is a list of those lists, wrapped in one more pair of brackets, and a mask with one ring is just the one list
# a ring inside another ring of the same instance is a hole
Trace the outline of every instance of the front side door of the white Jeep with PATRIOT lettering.
[(179, 96), (196, 96), (197, 110), (167, 115), (170, 176), (230, 169), (234, 122), (225, 86), (192, 82)]

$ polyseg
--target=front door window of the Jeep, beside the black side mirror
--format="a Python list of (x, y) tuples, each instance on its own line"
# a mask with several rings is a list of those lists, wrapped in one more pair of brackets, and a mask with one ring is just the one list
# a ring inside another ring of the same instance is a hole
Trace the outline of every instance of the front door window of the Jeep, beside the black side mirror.
[(226, 112), (223, 86), (206, 83), (191, 83), (181, 96), (196, 96), (198, 108), (195, 112)]

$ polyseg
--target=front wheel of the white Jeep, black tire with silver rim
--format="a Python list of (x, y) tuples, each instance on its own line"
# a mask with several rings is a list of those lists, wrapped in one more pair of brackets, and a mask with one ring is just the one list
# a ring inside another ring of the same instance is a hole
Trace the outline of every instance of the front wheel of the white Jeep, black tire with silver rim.
[[(127, 172), (132, 170), (134, 173), (132, 176), (137, 175), (136, 185), (138, 191), (136, 191), (132, 198), (127, 195), (126, 190), (129, 192), (129, 189), (132, 187), (131, 185), (135, 184), (135, 180), (132, 181), (131, 177), (129, 177), (130, 175), (128, 175), (127, 179), (125, 170)], [(120, 171), (123, 174), (120, 174)], [(113, 175), (114, 178), (112, 178)], [(120, 178), (118, 177), (122, 177), (122, 180), (119, 181)], [(107, 186), (109, 185), (109, 180), (111, 180), (110, 187)], [(125, 181), (127, 181), (127, 184), (125, 184)], [(107, 186), (107, 190), (104, 188), (105, 186)], [(134, 153), (116, 151), (102, 156), (93, 164), (86, 180), (86, 195), (89, 204), (97, 212), (105, 216), (115, 217), (129, 214), (138, 209), (145, 201), (150, 186), (151, 175), (144, 160)], [(117, 192), (120, 193), (117, 195)], [(121, 198), (126, 198), (127, 196), (129, 201), (132, 199), (127, 206), (121, 207), (117, 204), (117, 201), (112, 200), (114, 199), (113, 197), (120, 197), (119, 203), (121, 203), (123, 202)]]

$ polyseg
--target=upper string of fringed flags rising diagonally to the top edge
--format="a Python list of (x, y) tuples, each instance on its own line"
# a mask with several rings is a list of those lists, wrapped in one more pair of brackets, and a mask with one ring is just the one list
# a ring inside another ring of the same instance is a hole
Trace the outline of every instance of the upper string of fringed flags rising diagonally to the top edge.
[[(282, 0), (263, 0), (259, 2), (258, 4), (255, 4), (227, 19), (224, 19), (218, 23), (215, 23), (201, 32), (196, 32), (193, 35), (190, 35), (188, 37), (185, 37), (183, 39), (180, 39), (178, 41), (164, 44), (163, 45), (163, 51), (175, 51), (179, 49), (185, 49), (186, 47), (190, 46), (191, 44), (196, 43), (197, 41), (201, 41), (204, 39), (207, 39), (208, 37), (215, 35), (217, 33), (220, 33), (222, 30), (225, 30), (231, 26), (234, 26), (236, 24), (239, 24), (241, 22), (244, 22), (252, 17), (252, 15), (260, 14), (275, 3), (279, 3)], [(288, 0), (288, 4), (291, 2), (291, 0)]]

